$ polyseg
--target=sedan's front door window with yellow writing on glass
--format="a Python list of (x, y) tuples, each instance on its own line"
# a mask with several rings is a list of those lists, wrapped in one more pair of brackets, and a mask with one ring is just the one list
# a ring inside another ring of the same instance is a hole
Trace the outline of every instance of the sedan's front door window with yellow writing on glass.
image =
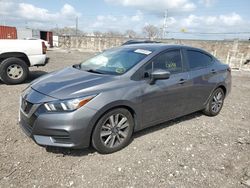
[(164, 69), (172, 74), (182, 72), (180, 50), (173, 50), (158, 55), (145, 68), (147, 72), (152, 72), (152, 69)]

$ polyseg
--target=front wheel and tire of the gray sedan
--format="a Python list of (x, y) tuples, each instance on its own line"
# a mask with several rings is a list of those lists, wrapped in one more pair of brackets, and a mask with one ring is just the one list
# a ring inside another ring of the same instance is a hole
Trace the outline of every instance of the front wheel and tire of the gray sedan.
[(129, 144), (133, 130), (134, 119), (128, 110), (124, 108), (110, 110), (95, 126), (92, 146), (102, 154), (116, 152)]

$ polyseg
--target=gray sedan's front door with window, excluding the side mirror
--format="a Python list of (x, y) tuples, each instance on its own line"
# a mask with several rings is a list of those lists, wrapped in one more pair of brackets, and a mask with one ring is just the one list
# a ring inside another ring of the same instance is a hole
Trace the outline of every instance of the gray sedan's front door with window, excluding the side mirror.
[[(189, 89), (189, 74), (183, 70), (180, 50), (161, 53), (145, 68), (142, 81), (142, 121), (143, 126), (160, 123), (184, 114)], [(149, 84), (148, 75), (155, 69), (165, 69), (170, 78)]]

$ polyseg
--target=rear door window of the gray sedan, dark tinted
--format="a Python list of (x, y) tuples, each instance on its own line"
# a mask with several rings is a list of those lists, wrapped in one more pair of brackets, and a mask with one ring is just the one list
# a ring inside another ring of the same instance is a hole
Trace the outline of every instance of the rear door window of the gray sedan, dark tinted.
[(194, 50), (187, 50), (187, 58), (191, 70), (207, 67), (212, 62), (210, 56)]

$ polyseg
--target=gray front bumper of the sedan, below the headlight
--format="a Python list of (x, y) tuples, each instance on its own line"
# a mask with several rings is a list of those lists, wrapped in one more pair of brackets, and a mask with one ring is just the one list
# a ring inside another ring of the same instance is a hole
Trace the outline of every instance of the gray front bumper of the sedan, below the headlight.
[(39, 105), (32, 114), (20, 107), (19, 124), (27, 136), (37, 144), (68, 148), (86, 148), (89, 146), (93, 117), (96, 111), (82, 107), (69, 113), (40, 112)]

